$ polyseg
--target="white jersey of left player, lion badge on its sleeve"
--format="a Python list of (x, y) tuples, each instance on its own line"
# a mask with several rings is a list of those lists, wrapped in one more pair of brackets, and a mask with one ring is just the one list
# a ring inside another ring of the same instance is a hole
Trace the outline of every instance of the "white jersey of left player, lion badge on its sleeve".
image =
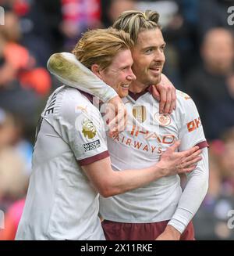
[(77, 89), (62, 86), (41, 117), (16, 240), (105, 240), (99, 194), (80, 167), (108, 157), (100, 112)]

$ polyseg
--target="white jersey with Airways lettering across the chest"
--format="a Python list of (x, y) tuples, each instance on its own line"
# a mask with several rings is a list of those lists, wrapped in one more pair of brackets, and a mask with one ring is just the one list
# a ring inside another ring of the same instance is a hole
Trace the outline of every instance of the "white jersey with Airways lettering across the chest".
[[(177, 90), (176, 110), (164, 116), (158, 113), (159, 103), (150, 91), (136, 100), (133, 93), (123, 99), (130, 122), (126, 131), (108, 138), (115, 171), (150, 167), (178, 139), (179, 151), (207, 146), (190, 96)], [(172, 218), (181, 194), (179, 175), (172, 175), (114, 197), (100, 197), (100, 212), (103, 218), (114, 222), (160, 222)]]

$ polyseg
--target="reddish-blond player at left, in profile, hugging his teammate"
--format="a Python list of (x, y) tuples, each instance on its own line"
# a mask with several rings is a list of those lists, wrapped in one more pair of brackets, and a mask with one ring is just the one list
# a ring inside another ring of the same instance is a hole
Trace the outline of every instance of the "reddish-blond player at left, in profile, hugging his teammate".
[[(88, 77), (96, 74), (125, 96), (136, 79), (131, 47), (126, 32), (99, 29), (85, 33), (74, 53), (87, 65)], [(64, 56), (70, 60), (66, 67), (62, 65)], [(76, 57), (58, 54), (50, 64), (61, 78), (69, 74), (73, 81)], [(57, 88), (37, 127), (33, 171), (16, 240), (105, 240), (98, 218), (99, 193), (110, 197), (165, 175), (192, 171), (200, 151), (193, 147), (176, 153), (178, 144), (151, 166), (113, 171), (105, 124), (91, 96), (66, 85)]]

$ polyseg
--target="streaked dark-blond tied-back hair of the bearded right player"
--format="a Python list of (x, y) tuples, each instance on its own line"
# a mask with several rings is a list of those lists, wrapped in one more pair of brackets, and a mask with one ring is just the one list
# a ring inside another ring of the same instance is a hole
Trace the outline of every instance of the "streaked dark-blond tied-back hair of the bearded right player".
[(130, 34), (134, 43), (136, 43), (138, 34), (141, 31), (147, 31), (155, 28), (161, 29), (158, 19), (159, 14), (156, 11), (147, 10), (145, 12), (140, 12), (130, 10), (123, 12), (112, 27), (126, 31)]

